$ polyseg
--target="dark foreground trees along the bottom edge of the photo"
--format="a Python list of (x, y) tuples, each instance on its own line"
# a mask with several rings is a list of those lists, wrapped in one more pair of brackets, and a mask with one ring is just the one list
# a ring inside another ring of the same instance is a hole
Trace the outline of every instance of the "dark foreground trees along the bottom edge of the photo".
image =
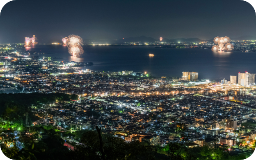
[[(48, 134), (48, 138), (35, 141), (39, 133)], [(58, 131), (56, 127), (34, 126), (30, 128), (30, 137), (21, 137), (24, 145), (0, 148), (7, 158), (13, 160), (244, 160), (245, 155), (230, 156), (225, 149), (195, 147), (187, 149), (182, 143), (170, 142), (166, 147), (152, 146), (148, 142), (124, 142), (111, 135), (99, 134), (96, 130), (82, 130), (71, 133)], [(101, 136), (99, 136), (101, 135)], [(2, 135), (1, 135), (2, 136)], [(75, 147), (69, 150), (64, 146), (62, 137), (73, 136), (79, 144), (68, 142)], [(2, 137), (7, 138), (7, 137)], [(21, 149), (22, 147), (22, 149)]]

